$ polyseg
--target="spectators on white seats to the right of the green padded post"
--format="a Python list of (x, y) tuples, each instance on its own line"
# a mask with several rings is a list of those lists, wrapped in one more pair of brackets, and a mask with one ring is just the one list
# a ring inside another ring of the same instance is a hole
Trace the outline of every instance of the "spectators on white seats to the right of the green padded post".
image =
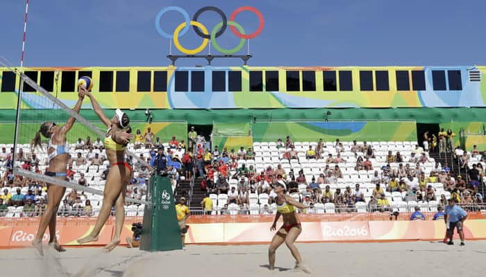
[(253, 148), (210, 153), (199, 150), (196, 166), (208, 213), (274, 213), (278, 182), (295, 199), (311, 206), (303, 213), (355, 211), (437, 211), (453, 197), (468, 210), (483, 204), (486, 152), (456, 148), (461, 175), (436, 162), (410, 142), (253, 143)]

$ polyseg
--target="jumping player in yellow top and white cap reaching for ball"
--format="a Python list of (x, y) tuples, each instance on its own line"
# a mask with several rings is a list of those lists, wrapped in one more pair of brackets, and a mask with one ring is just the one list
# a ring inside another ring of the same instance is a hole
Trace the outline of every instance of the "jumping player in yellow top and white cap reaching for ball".
[(110, 171), (106, 177), (106, 184), (104, 190), (103, 204), (101, 211), (97, 219), (97, 223), (94, 226), (90, 235), (78, 240), (79, 244), (85, 244), (87, 242), (94, 242), (98, 240), (101, 228), (105, 224), (106, 220), (110, 216), (111, 207), (115, 206), (115, 235), (112, 241), (106, 245), (105, 249), (111, 251), (120, 242), (121, 229), (123, 228), (125, 220), (125, 195), (126, 185), (130, 181), (132, 168), (125, 161), (125, 148), (128, 142), (133, 138), (133, 134), (130, 134), (131, 129), (128, 126), (130, 118), (120, 109), (115, 111), (115, 115), (110, 119), (105, 114), (94, 99), (93, 95), (89, 92), (85, 93), (90, 98), (94, 112), (99, 116), (101, 121), (108, 127), (108, 131), (105, 136), (105, 149), (106, 157), (110, 161)]

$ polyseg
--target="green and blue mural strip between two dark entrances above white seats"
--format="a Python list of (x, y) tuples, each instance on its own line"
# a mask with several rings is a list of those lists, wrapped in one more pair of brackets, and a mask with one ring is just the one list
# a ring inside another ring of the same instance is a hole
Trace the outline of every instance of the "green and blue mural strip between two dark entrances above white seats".
[(414, 122), (270, 122), (253, 124), (254, 141), (417, 141)]

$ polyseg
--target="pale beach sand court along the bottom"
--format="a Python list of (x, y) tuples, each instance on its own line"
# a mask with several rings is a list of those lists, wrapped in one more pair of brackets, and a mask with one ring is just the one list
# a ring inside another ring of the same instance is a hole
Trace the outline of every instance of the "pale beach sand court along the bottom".
[[(465, 247), (442, 242), (297, 244), (313, 276), (484, 276), (486, 241)], [(267, 245), (189, 245), (185, 250), (153, 252), (118, 247), (0, 251), (2, 276), (308, 276), (294, 271), (290, 251), (281, 246), (276, 270), (269, 271)]]

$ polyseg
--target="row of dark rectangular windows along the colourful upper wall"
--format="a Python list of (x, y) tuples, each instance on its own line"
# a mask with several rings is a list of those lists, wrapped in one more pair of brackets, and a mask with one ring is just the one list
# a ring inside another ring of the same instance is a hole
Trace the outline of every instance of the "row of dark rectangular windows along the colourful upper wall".
[[(37, 80), (40, 73), (40, 86), (47, 91), (54, 90), (54, 71), (26, 71), (32, 80)], [(112, 92), (115, 79), (115, 91), (130, 91), (130, 71), (100, 71), (99, 91)], [(265, 77), (264, 77), (265, 73)], [(446, 78), (447, 73), (447, 78)], [(395, 71), (396, 90), (423, 91), (426, 90), (425, 72), (421, 70)], [(114, 78), (116, 75), (116, 78)], [(92, 77), (92, 71), (62, 71), (60, 73), (60, 91), (76, 91), (76, 80), (81, 76)], [(389, 91), (388, 71), (363, 70), (359, 72), (360, 91)], [(265, 79), (265, 80), (264, 80)], [(411, 80), (410, 80), (411, 79)], [(228, 82), (226, 82), (228, 80)], [(302, 80), (302, 82), (301, 82)], [(411, 82), (410, 82), (411, 81)], [(459, 70), (433, 70), (433, 90), (460, 91), (462, 90), (462, 77)], [(175, 91), (204, 91), (205, 71), (176, 71)], [(212, 91), (242, 91), (241, 71), (212, 71)], [(352, 91), (352, 71), (323, 71), (323, 91)], [(449, 86), (448, 86), (449, 85)], [(152, 88), (153, 87), (153, 88)], [(280, 87), (278, 71), (249, 71), (250, 91), (317, 91), (315, 71), (285, 71), (285, 87)], [(320, 89), (319, 89), (320, 90)], [(4, 71), (1, 82), (2, 92), (15, 91), (15, 73)], [(34, 91), (24, 84), (24, 91)], [(137, 91), (167, 91), (167, 71), (137, 71)]]

